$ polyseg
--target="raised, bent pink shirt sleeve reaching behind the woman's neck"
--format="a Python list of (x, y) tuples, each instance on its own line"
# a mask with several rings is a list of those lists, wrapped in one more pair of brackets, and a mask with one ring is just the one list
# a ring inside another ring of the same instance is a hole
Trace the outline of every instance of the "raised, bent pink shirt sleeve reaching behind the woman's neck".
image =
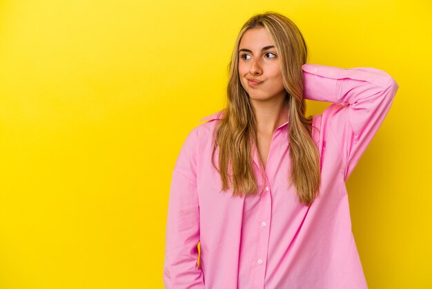
[(331, 102), (322, 113), (344, 163), (344, 181), (384, 121), (399, 85), (377, 68), (304, 64), (304, 98)]

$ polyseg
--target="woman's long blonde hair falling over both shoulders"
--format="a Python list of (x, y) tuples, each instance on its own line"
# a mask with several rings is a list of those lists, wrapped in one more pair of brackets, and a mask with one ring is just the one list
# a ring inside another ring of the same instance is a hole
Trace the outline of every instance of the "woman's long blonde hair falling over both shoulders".
[[(215, 127), (212, 153), (213, 166), (219, 171), (222, 191), (233, 188), (233, 196), (257, 194), (257, 183), (251, 162), (252, 146), (257, 147), (257, 120), (248, 93), (239, 79), (239, 43), (246, 30), (265, 28), (279, 55), (282, 79), (286, 90), (284, 105), (288, 109), (288, 136), (291, 174), (288, 182), (297, 191), (300, 203), (311, 205), (320, 187), (320, 156), (312, 139), (312, 118), (304, 115), (302, 65), (306, 63), (307, 47), (303, 35), (293, 21), (277, 12), (254, 15), (242, 27), (228, 64), (229, 81), (224, 118)], [(215, 151), (219, 146), (219, 169)], [(262, 167), (262, 164), (261, 164)], [(228, 178), (228, 169), (230, 178)], [(264, 173), (264, 169), (262, 169)]]

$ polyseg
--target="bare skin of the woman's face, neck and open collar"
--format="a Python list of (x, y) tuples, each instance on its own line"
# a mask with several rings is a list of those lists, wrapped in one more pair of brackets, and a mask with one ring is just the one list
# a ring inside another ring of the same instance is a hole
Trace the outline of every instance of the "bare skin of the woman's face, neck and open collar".
[[(258, 149), (264, 167), (271, 139), (277, 127), (288, 119), (283, 109), (285, 88), (282, 82), (279, 57), (265, 28), (247, 30), (239, 45), (239, 78), (251, 98), (257, 118)], [(262, 82), (253, 86), (248, 78)]]

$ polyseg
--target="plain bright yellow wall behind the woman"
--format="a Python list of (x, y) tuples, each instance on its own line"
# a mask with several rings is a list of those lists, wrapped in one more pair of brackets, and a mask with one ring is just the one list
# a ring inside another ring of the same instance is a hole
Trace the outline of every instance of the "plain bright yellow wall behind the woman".
[(0, 1), (0, 288), (163, 288), (177, 154), (266, 10), (309, 62), (400, 85), (347, 182), (353, 232), (370, 288), (432, 288), (429, 0)]

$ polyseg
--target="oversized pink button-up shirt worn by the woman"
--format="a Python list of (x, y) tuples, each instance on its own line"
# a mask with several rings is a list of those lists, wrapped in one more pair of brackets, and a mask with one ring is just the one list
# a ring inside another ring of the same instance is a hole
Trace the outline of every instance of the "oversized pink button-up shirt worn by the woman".
[[(261, 195), (231, 197), (211, 164), (218, 111), (188, 134), (168, 201), (164, 285), (171, 289), (363, 289), (345, 182), (382, 124), (398, 84), (376, 68), (304, 64), (304, 97), (332, 102), (313, 117), (320, 195), (306, 206), (288, 187), (288, 121), (271, 141)], [(218, 165), (217, 148), (215, 162)], [(197, 244), (201, 242), (200, 266)]]

